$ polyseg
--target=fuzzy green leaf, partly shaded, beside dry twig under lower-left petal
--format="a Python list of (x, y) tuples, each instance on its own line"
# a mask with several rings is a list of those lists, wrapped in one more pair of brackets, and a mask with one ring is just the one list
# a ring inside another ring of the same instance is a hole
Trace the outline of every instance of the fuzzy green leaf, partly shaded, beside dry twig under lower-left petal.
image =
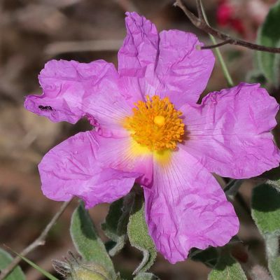
[(76, 250), (87, 261), (106, 267), (112, 279), (116, 279), (113, 262), (109, 257), (102, 240), (97, 235), (90, 214), (83, 203), (76, 208), (71, 218), (70, 233)]

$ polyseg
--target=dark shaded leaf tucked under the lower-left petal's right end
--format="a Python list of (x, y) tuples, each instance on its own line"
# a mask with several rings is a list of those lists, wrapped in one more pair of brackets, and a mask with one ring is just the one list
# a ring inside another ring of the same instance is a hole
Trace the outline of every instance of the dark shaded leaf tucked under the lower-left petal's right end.
[(111, 247), (109, 248), (109, 254), (112, 256), (116, 255), (125, 246), (127, 223), (133, 202), (133, 193), (113, 202), (106, 216), (106, 221), (102, 223), (102, 230), (104, 230), (105, 235), (113, 240), (113, 244), (110, 244)]

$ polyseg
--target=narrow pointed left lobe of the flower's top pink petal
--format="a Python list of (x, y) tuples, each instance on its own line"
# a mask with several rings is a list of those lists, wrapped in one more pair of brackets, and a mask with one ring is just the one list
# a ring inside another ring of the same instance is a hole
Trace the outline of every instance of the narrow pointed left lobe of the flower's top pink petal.
[[(125, 13), (127, 36), (118, 52), (118, 71), (123, 87), (137, 102), (149, 94), (153, 85), (155, 61), (158, 57), (158, 31), (150, 20), (137, 13)], [(153, 90), (154, 91), (154, 90)]]

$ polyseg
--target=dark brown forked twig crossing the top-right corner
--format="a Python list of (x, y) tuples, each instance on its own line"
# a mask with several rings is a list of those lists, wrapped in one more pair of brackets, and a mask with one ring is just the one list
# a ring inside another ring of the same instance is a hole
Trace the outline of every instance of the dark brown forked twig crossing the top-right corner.
[(214, 29), (210, 25), (207, 24), (207, 22), (204, 20), (203, 16), (200, 15), (200, 9), (202, 8), (201, 6), (201, 1), (197, 0), (197, 10), (199, 11), (199, 16), (197, 17), (194, 15), (186, 6), (183, 4), (181, 0), (176, 0), (174, 3), (174, 6), (178, 6), (183, 10), (183, 12), (187, 15), (189, 20), (195, 25), (195, 27), (201, 29), (202, 31), (211, 34), (212, 36), (219, 38), (223, 41), (227, 41), (226, 43), (223, 43), (223, 45), (230, 43), (231, 45), (241, 45), (244, 48), (249, 48), (251, 50), (259, 50), (262, 52), (273, 52), (273, 53), (280, 53), (280, 48), (271, 48), (271, 47), (266, 47), (265, 45), (258, 45), (255, 43), (250, 43), (244, 40), (239, 40), (237, 38), (232, 38), (228, 34), (225, 34), (221, 31), (218, 31), (217, 29)]

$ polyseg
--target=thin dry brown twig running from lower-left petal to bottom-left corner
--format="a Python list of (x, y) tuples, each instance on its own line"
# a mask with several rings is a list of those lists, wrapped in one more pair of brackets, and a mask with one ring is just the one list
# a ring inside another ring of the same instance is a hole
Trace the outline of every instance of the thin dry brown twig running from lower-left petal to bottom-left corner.
[[(45, 229), (43, 230), (43, 232), (41, 232), (41, 235), (35, 239), (29, 246), (27, 246), (21, 253), (20, 255), (27, 255), (28, 253), (30, 253), (31, 251), (33, 251), (35, 248), (37, 248), (38, 246), (42, 246), (45, 244), (45, 238), (48, 235), (48, 232), (50, 232), (50, 229), (53, 227), (53, 225), (55, 225), (55, 223), (57, 222), (57, 220), (59, 219), (60, 216), (62, 216), (64, 210), (66, 209), (66, 207), (69, 205), (69, 203), (71, 202), (71, 200), (69, 202), (64, 202), (62, 204), (62, 206), (59, 208), (59, 210), (57, 211), (57, 213), (55, 214), (55, 216), (52, 217), (50, 223), (48, 223), (48, 225), (45, 227)], [(8, 265), (8, 267), (6, 267), (5, 269), (3, 269), (1, 271), (0, 274), (0, 280), (3, 280), (6, 278), (6, 276), (8, 276), (8, 274), (10, 274), (10, 272), (12, 272), (12, 270), (18, 265), (18, 263), (20, 262), (20, 260), (22, 260), (19, 256), (15, 257), (13, 259), (12, 262), (10, 262), (10, 265)]]

